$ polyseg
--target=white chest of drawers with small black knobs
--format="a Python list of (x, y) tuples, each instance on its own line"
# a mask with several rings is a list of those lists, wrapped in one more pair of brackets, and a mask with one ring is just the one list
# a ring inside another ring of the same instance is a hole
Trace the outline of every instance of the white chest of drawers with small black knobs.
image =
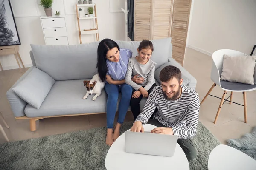
[(46, 45), (68, 45), (65, 16), (41, 16), (41, 26)]

